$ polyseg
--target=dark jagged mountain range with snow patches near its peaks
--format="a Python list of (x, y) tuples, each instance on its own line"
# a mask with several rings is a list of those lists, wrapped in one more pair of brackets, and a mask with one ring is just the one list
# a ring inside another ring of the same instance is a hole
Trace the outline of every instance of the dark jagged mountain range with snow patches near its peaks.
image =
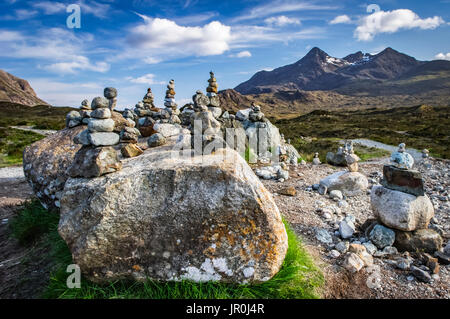
[[(346, 95), (423, 93), (450, 87), (450, 61), (418, 61), (392, 48), (371, 55), (361, 51), (335, 58), (315, 47), (299, 61), (260, 71), (235, 90), (242, 94), (264, 94), (285, 90), (336, 91)], [(420, 92), (417, 92), (420, 81)], [(449, 92), (435, 92), (448, 96)]]

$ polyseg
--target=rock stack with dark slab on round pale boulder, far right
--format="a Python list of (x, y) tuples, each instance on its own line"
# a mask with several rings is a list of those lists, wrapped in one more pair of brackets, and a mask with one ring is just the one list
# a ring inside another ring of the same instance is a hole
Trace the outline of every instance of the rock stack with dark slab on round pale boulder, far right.
[(414, 159), (400, 144), (391, 156), (393, 165), (383, 167), (381, 185), (371, 191), (372, 210), (378, 220), (396, 233), (395, 244), (400, 251), (433, 253), (442, 245), (442, 238), (428, 224), (434, 207), (424, 192), (419, 171), (412, 170)]

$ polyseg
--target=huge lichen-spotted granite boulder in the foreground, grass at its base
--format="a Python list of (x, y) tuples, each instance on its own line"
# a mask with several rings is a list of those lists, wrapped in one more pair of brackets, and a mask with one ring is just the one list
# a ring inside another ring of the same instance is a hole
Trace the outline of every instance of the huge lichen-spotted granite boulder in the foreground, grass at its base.
[(121, 171), (66, 182), (58, 230), (74, 263), (96, 282), (274, 276), (287, 235), (271, 193), (235, 151), (192, 159), (171, 143)]

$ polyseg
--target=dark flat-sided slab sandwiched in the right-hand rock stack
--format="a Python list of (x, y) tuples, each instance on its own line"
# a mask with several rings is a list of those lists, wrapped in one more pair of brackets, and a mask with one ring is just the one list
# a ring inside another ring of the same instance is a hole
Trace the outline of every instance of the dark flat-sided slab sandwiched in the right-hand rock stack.
[(383, 167), (381, 185), (415, 196), (425, 195), (422, 174), (415, 170), (406, 170), (392, 165), (385, 165)]

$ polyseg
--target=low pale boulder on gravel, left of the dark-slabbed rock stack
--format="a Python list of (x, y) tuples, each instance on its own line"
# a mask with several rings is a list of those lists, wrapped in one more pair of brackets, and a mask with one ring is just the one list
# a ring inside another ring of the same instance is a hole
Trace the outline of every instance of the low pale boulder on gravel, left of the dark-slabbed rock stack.
[(361, 173), (340, 171), (323, 178), (319, 185), (324, 193), (339, 190), (343, 195), (351, 197), (364, 194), (369, 182)]

